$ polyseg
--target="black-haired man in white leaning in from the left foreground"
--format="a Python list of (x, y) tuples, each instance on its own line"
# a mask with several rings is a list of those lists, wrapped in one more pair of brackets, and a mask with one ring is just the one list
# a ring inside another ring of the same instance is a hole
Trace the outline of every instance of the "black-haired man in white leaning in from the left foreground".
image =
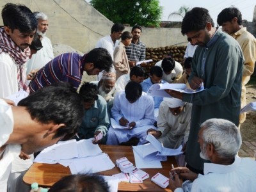
[(42, 88), (20, 100), (18, 106), (0, 100), (0, 191), (6, 191), (13, 158), (20, 150), (32, 154), (64, 136), (74, 136), (83, 113), (83, 100), (66, 83)]

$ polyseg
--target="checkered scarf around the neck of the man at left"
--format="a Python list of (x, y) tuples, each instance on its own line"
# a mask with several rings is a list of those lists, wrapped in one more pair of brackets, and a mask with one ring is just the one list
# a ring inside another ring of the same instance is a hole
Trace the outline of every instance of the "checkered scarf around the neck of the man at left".
[(12, 40), (12, 38), (6, 34), (4, 28), (0, 28), (0, 54), (6, 52), (15, 62), (17, 67), (17, 81), (18, 88), (22, 88), (28, 92), (28, 86), (26, 85), (26, 72), (24, 71), (24, 63), (28, 61), (30, 55), (29, 47), (22, 51)]

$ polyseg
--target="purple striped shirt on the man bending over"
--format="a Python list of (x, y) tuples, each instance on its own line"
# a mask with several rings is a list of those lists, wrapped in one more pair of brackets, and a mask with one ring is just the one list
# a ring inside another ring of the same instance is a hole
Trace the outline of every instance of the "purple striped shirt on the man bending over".
[(85, 54), (80, 56), (76, 52), (60, 54), (53, 60), (49, 61), (36, 73), (36, 76), (29, 83), (31, 93), (40, 88), (56, 82), (68, 82), (77, 89), (81, 83)]

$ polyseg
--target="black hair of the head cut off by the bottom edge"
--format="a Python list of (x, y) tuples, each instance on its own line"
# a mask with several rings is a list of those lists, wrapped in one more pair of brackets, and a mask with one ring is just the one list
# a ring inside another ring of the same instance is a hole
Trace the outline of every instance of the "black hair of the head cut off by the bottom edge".
[(93, 173), (67, 175), (56, 182), (49, 192), (108, 192), (108, 182)]

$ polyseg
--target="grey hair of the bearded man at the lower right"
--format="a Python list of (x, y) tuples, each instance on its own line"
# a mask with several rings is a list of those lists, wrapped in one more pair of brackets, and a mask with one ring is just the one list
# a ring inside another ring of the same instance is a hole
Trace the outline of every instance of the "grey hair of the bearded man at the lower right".
[(242, 145), (242, 137), (235, 124), (225, 119), (212, 118), (206, 120), (201, 128), (204, 128), (204, 142), (212, 143), (221, 158), (236, 156)]

